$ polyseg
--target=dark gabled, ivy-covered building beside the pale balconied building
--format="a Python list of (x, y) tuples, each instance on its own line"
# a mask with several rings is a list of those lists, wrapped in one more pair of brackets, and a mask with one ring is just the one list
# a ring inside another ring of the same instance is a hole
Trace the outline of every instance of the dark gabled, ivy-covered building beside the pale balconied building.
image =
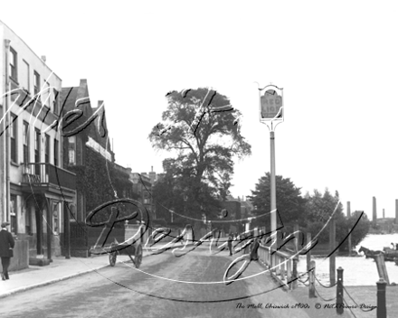
[[(86, 222), (90, 211), (110, 201), (135, 199), (137, 195), (129, 179), (130, 170), (115, 163), (104, 102), (100, 100), (97, 108), (91, 106), (86, 79), (81, 79), (79, 86), (62, 88), (62, 114), (63, 163), (77, 175), (76, 201), (71, 204), (71, 256), (88, 257), (101, 235), (100, 228)], [(118, 209), (122, 217), (130, 215), (135, 207), (118, 204)], [(107, 221), (110, 213), (110, 206), (101, 209), (92, 222)], [(123, 226), (117, 223), (118, 229), (112, 229), (118, 232), (118, 241), (124, 240)], [(109, 240), (104, 244), (107, 243)]]

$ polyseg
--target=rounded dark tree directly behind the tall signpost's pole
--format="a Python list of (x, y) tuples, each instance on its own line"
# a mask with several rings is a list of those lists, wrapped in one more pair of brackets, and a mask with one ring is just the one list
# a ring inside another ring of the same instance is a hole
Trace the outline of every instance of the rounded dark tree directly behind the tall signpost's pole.
[[(301, 196), (300, 188), (298, 188), (289, 178), (283, 178), (281, 175), (275, 177), (277, 192), (277, 209), (280, 219), (277, 216), (279, 225), (284, 225), (287, 230), (291, 226), (302, 219), (304, 215), (305, 199)], [(251, 190), (249, 198), (256, 207), (254, 213), (263, 215), (270, 212), (270, 173), (265, 173), (259, 182), (256, 183), (256, 189)], [(280, 222), (281, 220), (281, 222)], [(256, 225), (266, 225), (270, 229), (270, 215), (257, 220)]]

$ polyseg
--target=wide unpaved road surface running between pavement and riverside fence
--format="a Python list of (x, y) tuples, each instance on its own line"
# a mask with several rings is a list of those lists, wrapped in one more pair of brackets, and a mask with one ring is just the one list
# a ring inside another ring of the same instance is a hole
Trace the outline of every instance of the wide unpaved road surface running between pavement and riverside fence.
[[(0, 316), (291, 317), (292, 309), (264, 308), (268, 303), (289, 302), (290, 307), (295, 303), (280, 288), (272, 290), (275, 284), (269, 274), (223, 283), (223, 274), (235, 257), (226, 251), (210, 256), (206, 246), (183, 257), (167, 251), (144, 257), (139, 270), (131, 263), (117, 264), (10, 295), (1, 300)], [(251, 264), (244, 276), (259, 272), (261, 267)], [(295, 317), (308, 317), (298, 309), (293, 311)]]

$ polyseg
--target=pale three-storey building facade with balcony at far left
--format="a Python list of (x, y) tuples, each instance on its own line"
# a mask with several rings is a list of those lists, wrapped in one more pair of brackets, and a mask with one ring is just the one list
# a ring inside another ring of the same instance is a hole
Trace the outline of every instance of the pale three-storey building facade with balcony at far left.
[(75, 174), (63, 169), (60, 79), (0, 22), (1, 221), (29, 241), (29, 257), (62, 255)]

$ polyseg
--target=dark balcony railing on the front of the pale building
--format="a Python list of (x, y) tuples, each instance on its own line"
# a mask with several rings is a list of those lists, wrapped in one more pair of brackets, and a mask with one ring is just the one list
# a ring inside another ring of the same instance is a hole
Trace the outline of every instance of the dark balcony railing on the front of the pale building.
[(53, 184), (76, 190), (76, 174), (52, 164), (23, 164), (22, 182), (34, 186)]

